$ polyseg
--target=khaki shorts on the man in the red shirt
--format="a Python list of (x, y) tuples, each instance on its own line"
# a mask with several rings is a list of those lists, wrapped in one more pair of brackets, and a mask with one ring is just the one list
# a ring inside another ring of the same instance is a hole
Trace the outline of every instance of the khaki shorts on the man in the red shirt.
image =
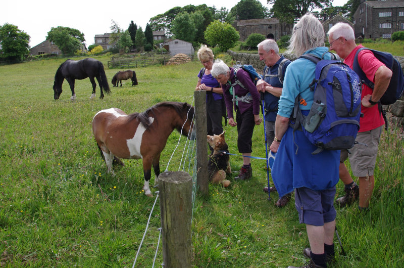
[(344, 162), (349, 157), (350, 168), (354, 176), (366, 177), (373, 175), (382, 129), (383, 126), (380, 126), (370, 131), (358, 132), (355, 141), (360, 144), (356, 144), (349, 149), (350, 154), (348, 154), (347, 150), (341, 150), (339, 161)]

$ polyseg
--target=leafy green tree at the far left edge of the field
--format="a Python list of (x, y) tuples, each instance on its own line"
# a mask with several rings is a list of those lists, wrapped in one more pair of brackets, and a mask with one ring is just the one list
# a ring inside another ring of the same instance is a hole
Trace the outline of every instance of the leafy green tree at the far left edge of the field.
[(30, 36), (18, 29), (18, 26), (5, 23), (0, 26), (0, 58), (9, 61), (21, 61), (29, 55)]

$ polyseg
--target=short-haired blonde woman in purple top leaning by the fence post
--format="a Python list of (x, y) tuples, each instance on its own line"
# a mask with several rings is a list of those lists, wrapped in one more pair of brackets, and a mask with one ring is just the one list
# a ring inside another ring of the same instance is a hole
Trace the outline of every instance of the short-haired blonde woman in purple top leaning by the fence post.
[(198, 82), (195, 90), (206, 91), (206, 121), (208, 124), (208, 135), (219, 135), (223, 132), (223, 91), (218, 80), (216, 80), (211, 74), (214, 55), (212, 50), (205, 44), (200, 46), (197, 55), (198, 60), (204, 65), (204, 68), (198, 73)]

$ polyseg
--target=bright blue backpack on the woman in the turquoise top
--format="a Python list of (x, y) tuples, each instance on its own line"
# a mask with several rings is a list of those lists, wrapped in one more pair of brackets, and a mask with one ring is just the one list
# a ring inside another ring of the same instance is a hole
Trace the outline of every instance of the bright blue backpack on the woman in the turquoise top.
[(311, 54), (300, 56), (316, 63), (315, 78), (310, 84), (314, 100), (305, 116), (298, 105), (304, 100), (297, 96), (291, 118), (293, 131), (301, 126), (310, 142), (318, 147), (312, 154), (354, 147), (361, 117), (361, 79), (334, 54), (335, 60), (324, 60), (324, 54), (321, 59)]

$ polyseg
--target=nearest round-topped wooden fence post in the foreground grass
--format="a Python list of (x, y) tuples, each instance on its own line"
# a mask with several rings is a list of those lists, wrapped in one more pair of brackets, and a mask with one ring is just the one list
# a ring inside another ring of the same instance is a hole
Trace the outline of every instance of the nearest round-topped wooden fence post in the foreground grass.
[(192, 177), (184, 171), (159, 175), (164, 267), (191, 267)]

